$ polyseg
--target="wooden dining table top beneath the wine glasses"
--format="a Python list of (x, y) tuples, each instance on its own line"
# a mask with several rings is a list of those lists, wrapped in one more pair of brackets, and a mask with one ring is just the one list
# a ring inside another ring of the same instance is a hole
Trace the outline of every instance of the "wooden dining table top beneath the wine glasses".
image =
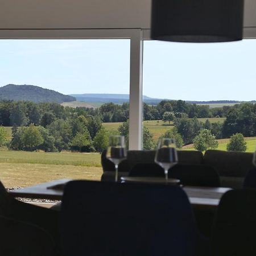
[[(53, 180), (46, 183), (33, 185), (22, 189), (14, 189), (9, 194), (14, 197), (27, 197), (31, 199), (51, 199), (61, 200), (63, 196), (63, 185), (71, 179)], [(49, 188), (57, 186), (56, 188)], [(58, 188), (59, 186), (59, 188)], [(189, 201), (193, 207), (216, 208), (220, 202), (221, 196), (231, 188), (214, 188), (214, 187), (191, 187), (184, 186)]]

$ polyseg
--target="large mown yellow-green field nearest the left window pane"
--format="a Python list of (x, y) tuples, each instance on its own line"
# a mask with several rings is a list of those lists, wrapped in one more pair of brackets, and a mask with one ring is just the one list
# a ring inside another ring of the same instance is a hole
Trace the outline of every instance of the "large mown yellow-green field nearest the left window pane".
[(27, 187), (71, 178), (100, 180), (100, 154), (0, 151), (0, 180), (6, 187)]

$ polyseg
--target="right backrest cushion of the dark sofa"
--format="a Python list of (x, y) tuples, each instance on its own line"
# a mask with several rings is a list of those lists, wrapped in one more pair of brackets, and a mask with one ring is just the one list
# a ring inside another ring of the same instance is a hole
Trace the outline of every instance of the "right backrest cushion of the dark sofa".
[(253, 153), (207, 150), (204, 154), (204, 164), (216, 169), (220, 176), (245, 177), (247, 171), (253, 168)]

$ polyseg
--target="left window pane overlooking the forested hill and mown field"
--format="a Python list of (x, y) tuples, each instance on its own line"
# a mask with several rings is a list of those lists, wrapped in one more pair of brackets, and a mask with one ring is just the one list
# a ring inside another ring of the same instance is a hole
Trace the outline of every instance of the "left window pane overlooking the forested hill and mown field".
[(100, 180), (109, 135), (129, 138), (130, 40), (7, 39), (0, 56), (5, 186)]

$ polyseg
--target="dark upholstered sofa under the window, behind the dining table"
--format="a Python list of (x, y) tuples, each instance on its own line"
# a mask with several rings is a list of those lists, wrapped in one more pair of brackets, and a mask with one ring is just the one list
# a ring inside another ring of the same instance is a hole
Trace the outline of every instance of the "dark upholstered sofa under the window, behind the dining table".
[[(118, 176), (127, 176), (137, 163), (154, 163), (155, 151), (130, 150), (127, 159), (119, 164)], [(216, 169), (222, 187), (241, 188), (247, 171), (253, 168), (253, 153), (207, 150), (203, 155), (199, 151), (178, 151), (180, 164), (206, 164)], [(102, 152), (103, 174), (101, 180), (114, 181), (114, 164), (106, 159)]]

